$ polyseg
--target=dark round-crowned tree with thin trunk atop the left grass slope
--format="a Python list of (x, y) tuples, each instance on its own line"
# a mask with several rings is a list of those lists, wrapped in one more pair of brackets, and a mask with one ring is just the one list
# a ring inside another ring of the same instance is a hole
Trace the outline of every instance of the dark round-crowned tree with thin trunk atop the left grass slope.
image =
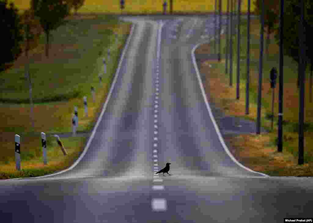
[(64, 0), (31, 0), (31, 9), (46, 34), (46, 56), (49, 57), (50, 32), (64, 24), (64, 18), (69, 15), (69, 3)]

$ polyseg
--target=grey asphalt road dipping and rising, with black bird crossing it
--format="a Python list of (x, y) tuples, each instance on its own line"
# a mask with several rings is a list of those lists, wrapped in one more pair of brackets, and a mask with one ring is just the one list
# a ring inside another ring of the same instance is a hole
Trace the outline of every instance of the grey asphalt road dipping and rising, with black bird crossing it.
[[(283, 222), (313, 217), (311, 178), (264, 176), (228, 155), (192, 58), (192, 49), (209, 39), (201, 36), (212, 32), (212, 17), (176, 17), (163, 25), (151, 17), (124, 19), (136, 25), (79, 162), (57, 175), (1, 180), (1, 221)], [(167, 162), (172, 175), (155, 175)]]

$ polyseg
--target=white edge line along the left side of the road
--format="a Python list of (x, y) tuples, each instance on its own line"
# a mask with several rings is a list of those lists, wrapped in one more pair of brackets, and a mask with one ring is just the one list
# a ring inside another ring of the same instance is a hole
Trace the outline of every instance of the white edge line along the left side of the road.
[[(7, 179), (7, 180), (36, 179), (36, 178), (43, 178), (43, 177), (48, 177), (48, 176), (54, 176), (54, 175), (58, 175), (58, 174), (61, 174), (61, 173), (64, 173), (64, 172), (66, 172), (66, 171), (69, 171), (69, 170), (73, 169), (73, 168), (80, 162), (80, 160), (81, 160), (81, 159), (84, 157), (84, 155), (86, 154), (86, 152), (87, 152), (87, 150), (88, 150), (88, 148), (89, 148), (89, 146), (90, 146), (90, 144), (91, 144), (91, 141), (92, 141), (93, 138), (95, 137), (95, 132), (96, 132), (96, 130), (97, 130), (97, 128), (98, 128), (98, 125), (99, 125), (99, 123), (100, 123), (100, 121), (101, 121), (101, 119), (102, 119), (102, 116), (103, 116), (103, 114), (104, 114), (104, 112), (105, 112), (106, 106), (107, 106), (107, 104), (108, 104), (108, 102), (109, 102), (109, 100), (110, 100), (112, 91), (113, 91), (114, 86), (115, 86), (115, 82), (116, 82), (116, 80), (117, 80), (118, 74), (119, 74), (120, 69), (121, 69), (121, 66), (122, 66), (122, 62), (123, 62), (123, 59), (124, 59), (124, 55), (125, 55), (125, 53), (126, 53), (126, 49), (128, 48), (128, 44), (129, 44), (129, 42), (130, 42), (131, 36), (133, 35), (135, 26), (136, 26), (136, 24), (132, 24), (132, 25), (131, 25), (131, 32), (130, 32), (130, 34), (129, 34), (128, 37), (127, 37), (127, 42), (126, 42), (126, 45), (125, 45), (125, 47), (124, 47), (124, 49), (123, 49), (123, 53), (122, 53), (122, 56), (121, 56), (121, 58), (120, 58), (120, 62), (119, 62), (118, 68), (116, 69), (115, 77), (114, 77), (114, 80), (113, 80), (113, 82), (112, 82), (112, 85), (111, 85), (109, 94), (108, 94), (108, 96), (107, 96), (107, 98), (106, 98), (106, 100), (105, 100), (105, 104), (103, 105), (103, 108), (102, 108), (101, 114), (100, 114), (99, 117), (98, 117), (97, 123), (95, 124), (95, 127), (94, 127), (94, 129), (93, 129), (93, 131), (92, 131), (92, 133), (91, 133), (91, 135), (90, 135), (90, 137), (89, 137), (89, 139), (88, 139), (88, 142), (87, 142), (87, 144), (86, 144), (86, 146), (85, 146), (85, 148), (84, 148), (84, 150), (83, 150), (83, 153), (80, 155), (80, 157), (79, 157), (79, 158), (74, 162), (74, 164), (71, 165), (69, 168), (67, 168), (67, 169), (65, 169), (65, 170), (62, 170), (62, 171), (60, 171), (60, 172), (54, 173), (54, 174), (49, 174), (49, 175), (44, 175), (44, 176), (38, 176), (38, 177), (20, 177), (20, 178)], [(4, 181), (4, 180), (1, 180), (1, 181)]]

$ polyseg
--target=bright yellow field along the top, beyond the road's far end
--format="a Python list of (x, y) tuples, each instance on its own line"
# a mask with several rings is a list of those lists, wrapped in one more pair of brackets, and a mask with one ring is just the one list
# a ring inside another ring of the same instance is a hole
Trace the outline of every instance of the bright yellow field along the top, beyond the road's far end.
[[(27, 0), (9, 0), (14, 2), (16, 7), (23, 10), (29, 8), (30, 1)], [(254, 0), (252, 0), (254, 2)], [(179, 0), (173, 1), (173, 11), (182, 13), (192, 12), (212, 12), (214, 11), (215, 0)], [(124, 13), (161, 13), (163, 0), (126, 0)], [(226, 11), (227, 1), (222, 1), (222, 10)], [(243, 12), (247, 12), (248, 3), (244, 1), (241, 6)], [(254, 4), (251, 3), (251, 11), (254, 10)], [(167, 11), (169, 11), (169, 1), (167, 1)], [(120, 1), (86, 0), (85, 5), (78, 10), (79, 13), (121, 13)]]

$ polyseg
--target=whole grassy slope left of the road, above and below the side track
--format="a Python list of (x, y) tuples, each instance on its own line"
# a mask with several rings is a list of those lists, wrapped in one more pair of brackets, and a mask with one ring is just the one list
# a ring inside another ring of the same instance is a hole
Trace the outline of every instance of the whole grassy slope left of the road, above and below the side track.
[[(77, 131), (85, 132), (93, 128), (105, 103), (130, 28), (131, 23), (118, 22), (113, 16), (107, 15), (69, 18), (66, 25), (54, 32), (49, 58), (44, 55), (42, 36), (38, 47), (30, 52), (30, 72), (36, 102), (34, 129), (31, 127), (30, 106), (23, 101), (29, 103), (28, 83), (22, 79), (27, 59), (22, 55), (11, 68), (1, 73), (1, 78), (5, 79), (0, 85), (1, 97), (7, 100), (0, 103), (0, 179), (44, 175), (66, 169), (74, 163), (87, 138), (61, 139), (69, 152), (65, 158), (57, 148), (55, 138), (47, 139), (48, 165), (44, 166), (40, 132), (71, 132), (74, 106), (78, 107)], [(119, 33), (116, 43), (113, 32)], [(98, 74), (103, 73), (102, 58), (106, 58), (108, 48), (111, 49), (110, 63), (107, 63), (107, 73), (103, 74), (100, 84)], [(14, 83), (17, 87), (13, 88)], [(91, 86), (96, 91), (95, 103)], [(88, 117), (84, 117), (82, 97), (85, 95)], [(21, 136), (21, 167), (24, 169), (21, 172), (15, 171), (14, 134)]]

